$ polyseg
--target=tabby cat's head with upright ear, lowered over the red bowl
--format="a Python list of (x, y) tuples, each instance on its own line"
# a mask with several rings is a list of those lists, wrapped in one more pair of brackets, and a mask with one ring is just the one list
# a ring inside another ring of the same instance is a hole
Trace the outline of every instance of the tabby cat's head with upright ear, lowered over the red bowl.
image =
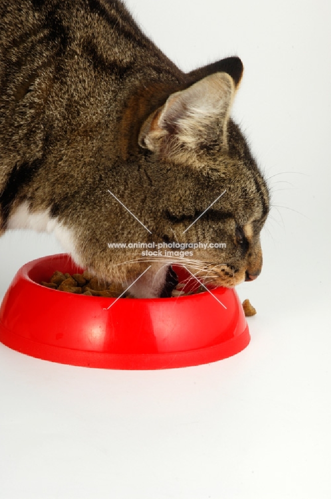
[(150, 113), (138, 136), (155, 200), (145, 200), (145, 220), (154, 240), (165, 242), (163, 256), (223, 286), (259, 275), (269, 211), (266, 182), (230, 118), (242, 71), (232, 57), (190, 73), (187, 87)]

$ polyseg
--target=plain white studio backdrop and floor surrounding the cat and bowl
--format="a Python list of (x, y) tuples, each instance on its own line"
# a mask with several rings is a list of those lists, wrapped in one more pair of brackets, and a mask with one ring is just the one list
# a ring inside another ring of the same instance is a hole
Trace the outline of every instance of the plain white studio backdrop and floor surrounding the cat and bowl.
[[(331, 4), (127, 3), (184, 70), (243, 59), (233, 114), (275, 205), (262, 274), (238, 288), (258, 311), (252, 341), (230, 359), (151, 372), (0, 344), (0, 498), (330, 499)], [(6, 234), (0, 296), (23, 263), (61, 251), (52, 236)]]

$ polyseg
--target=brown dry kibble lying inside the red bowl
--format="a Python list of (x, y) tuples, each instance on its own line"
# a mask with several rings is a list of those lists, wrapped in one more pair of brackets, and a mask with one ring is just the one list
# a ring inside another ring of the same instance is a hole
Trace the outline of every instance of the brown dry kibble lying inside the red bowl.
[[(72, 275), (68, 272), (62, 273), (59, 270), (55, 270), (49, 282), (41, 281), (41, 284), (52, 289), (58, 289), (59, 291), (66, 291), (67, 293), (104, 296), (106, 298), (118, 298), (124, 292), (124, 288), (120, 284), (101, 284), (98, 278), (93, 276), (88, 270), (85, 270), (82, 274)], [(184, 286), (185, 284), (183, 283), (177, 284), (171, 293), (172, 298), (205, 291), (203, 286), (199, 286), (196, 291), (185, 293), (182, 291)], [(128, 297), (130, 297), (129, 292), (123, 295), (123, 298)]]

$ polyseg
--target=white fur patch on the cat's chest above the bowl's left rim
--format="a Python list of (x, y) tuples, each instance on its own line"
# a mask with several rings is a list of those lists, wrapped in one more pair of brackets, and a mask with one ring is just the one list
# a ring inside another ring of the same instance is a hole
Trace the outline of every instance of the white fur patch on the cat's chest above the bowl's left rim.
[(49, 210), (42, 212), (30, 212), (28, 203), (25, 201), (19, 205), (8, 219), (8, 229), (31, 229), (37, 232), (54, 232), (57, 240), (65, 251), (70, 253), (72, 259), (80, 266), (84, 266), (77, 253), (75, 235), (72, 229), (60, 224), (57, 219), (50, 218)]

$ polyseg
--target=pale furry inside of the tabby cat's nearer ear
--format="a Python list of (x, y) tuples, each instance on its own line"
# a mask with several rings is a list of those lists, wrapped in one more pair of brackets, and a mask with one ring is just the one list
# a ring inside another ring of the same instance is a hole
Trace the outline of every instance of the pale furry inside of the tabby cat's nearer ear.
[(145, 121), (139, 145), (179, 163), (194, 156), (216, 130), (226, 147), (226, 123), (234, 94), (235, 83), (225, 72), (210, 74), (173, 93)]

